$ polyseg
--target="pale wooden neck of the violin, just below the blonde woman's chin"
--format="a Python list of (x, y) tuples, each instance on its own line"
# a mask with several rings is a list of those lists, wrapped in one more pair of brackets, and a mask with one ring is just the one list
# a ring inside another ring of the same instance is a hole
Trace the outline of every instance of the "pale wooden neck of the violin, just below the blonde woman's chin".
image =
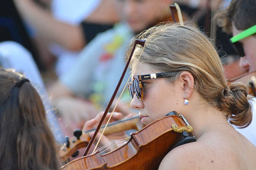
[[(101, 126), (99, 132), (102, 133), (103, 129), (105, 128), (104, 126)], [(108, 124), (107, 128), (104, 131), (104, 135), (112, 134), (112, 133), (118, 133), (122, 132), (125, 130), (130, 130), (130, 129), (140, 129), (140, 117), (139, 116), (134, 116), (132, 118), (126, 119), (126, 120), (121, 120), (117, 122), (113, 122)], [(90, 133), (94, 131), (95, 129), (85, 131), (84, 133)]]

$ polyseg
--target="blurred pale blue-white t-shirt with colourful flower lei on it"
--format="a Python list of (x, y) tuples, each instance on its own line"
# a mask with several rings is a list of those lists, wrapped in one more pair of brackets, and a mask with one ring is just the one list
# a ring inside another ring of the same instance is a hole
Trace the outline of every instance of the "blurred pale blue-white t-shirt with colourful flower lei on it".
[[(99, 33), (80, 52), (72, 68), (60, 76), (61, 83), (95, 105), (106, 106), (124, 70), (125, 51), (132, 36), (124, 23)], [(129, 78), (129, 72), (127, 70), (119, 92)], [(130, 102), (129, 92), (127, 94)]]

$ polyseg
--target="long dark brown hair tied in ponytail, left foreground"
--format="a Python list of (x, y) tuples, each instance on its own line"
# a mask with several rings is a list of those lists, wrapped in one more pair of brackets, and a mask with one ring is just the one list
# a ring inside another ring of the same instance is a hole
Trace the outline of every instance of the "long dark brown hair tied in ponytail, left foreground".
[(59, 169), (56, 142), (36, 89), (0, 68), (0, 169)]

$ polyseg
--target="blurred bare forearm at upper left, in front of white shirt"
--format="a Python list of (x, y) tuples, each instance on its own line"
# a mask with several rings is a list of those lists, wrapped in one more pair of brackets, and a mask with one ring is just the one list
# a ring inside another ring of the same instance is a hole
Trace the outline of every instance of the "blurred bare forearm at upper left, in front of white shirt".
[(14, 0), (22, 18), (34, 26), (38, 33), (70, 50), (82, 49), (85, 45), (80, 26), (72, 26), (52, 17), (31, 0)]

